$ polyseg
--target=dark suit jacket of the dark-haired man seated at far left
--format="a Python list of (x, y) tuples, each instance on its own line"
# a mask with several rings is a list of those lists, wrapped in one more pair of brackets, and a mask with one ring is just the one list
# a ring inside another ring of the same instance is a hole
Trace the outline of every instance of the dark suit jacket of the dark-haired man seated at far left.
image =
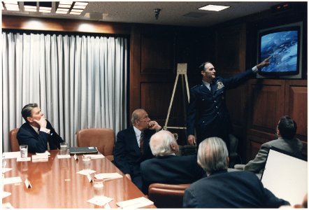
[(50, 134), (38, 132), (31, 127), (29, 123), (24, 123), (17, 132), (17, 140), (20, 145), (28, 145), (29, 153), (44, 153), (48, 150), (48, 144), (51, 150), (60, 148), (60, 143), (64, 142), (55, 132), (48, 120), (46, 128), (50, 130)]

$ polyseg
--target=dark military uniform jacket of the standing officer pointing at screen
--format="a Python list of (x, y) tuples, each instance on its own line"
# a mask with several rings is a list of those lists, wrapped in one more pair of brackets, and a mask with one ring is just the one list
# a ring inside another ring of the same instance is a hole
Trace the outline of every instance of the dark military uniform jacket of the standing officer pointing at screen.
[(190, 89), (190, 101), (187, 109), (187, 134), (194, 135), (196, 128), (197, 144), (207, 137), (227, 137), (232, 127), (225, 102), (225, 92), (250, 78), (252, 69), (238, 73), (231, 78), (216, 77), (210, 84), (196, 85)]

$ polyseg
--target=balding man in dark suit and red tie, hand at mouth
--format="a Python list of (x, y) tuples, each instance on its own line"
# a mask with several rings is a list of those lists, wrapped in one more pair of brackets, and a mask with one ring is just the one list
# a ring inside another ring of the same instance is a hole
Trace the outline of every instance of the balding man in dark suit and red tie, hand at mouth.
[(149, 141), (152, 134), (162, 130), (156, 122), (151, 121), (144, 109), (136, 109), (131, 117), (132, 126), (118, 132), (114, 163), (128, 179), (142, 189), (140, 165), (143, 160), (153, 157)]

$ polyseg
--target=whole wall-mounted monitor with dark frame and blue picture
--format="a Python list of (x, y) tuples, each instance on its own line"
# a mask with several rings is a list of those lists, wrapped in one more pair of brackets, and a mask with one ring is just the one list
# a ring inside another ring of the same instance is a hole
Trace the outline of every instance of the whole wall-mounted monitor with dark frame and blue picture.
[(271, 57), (257, 78), (302, 78), (303, 22), (258, 31), (257, 63)]

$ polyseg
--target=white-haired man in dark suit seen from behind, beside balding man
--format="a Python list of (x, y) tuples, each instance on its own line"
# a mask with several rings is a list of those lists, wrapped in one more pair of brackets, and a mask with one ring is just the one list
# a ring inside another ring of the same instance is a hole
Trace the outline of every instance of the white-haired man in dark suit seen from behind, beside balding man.
[(145, 194), (148, 194), (151, 183), (192, 183), (205, 175), (196, 162), (196, 155), (176, 155), (179, 147), (171, 132), (162, 130), (152, 135), (150, 149), (156, 158), (141, 163)]

